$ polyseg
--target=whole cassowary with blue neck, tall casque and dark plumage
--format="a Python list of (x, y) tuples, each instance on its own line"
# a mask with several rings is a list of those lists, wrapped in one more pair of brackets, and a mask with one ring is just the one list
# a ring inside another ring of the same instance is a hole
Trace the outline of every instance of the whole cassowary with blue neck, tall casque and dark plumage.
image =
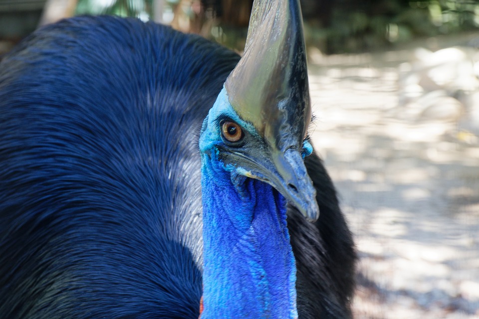
[(0, 317), (350, 318), (307, 83), (297, 0), (255, 1), (241, 59), (119, 17), (27, 37), (0, 64)]

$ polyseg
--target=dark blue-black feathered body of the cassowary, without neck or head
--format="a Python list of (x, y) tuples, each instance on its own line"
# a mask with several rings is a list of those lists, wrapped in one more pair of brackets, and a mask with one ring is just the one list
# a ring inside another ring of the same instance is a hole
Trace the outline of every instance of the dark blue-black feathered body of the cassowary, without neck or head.
[[(47, 26), (4, 57), (0, 318), (198, 318), (198, 137), (238, 60), (116, 17)], [(321, 216), (290, 211), (299, 316), (345, 318), (351, 235), (321, 162), (307, 167)]]

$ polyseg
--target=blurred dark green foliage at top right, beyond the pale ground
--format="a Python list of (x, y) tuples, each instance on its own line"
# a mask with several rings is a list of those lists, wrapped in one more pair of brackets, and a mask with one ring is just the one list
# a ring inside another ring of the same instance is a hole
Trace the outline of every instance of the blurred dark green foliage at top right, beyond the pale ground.
[(479, 26), (478, 0), (339, 0), (338, 4), (342, 5), (334, 7), (331, 24), (320, 35), (327, 52), (374, 50)]

